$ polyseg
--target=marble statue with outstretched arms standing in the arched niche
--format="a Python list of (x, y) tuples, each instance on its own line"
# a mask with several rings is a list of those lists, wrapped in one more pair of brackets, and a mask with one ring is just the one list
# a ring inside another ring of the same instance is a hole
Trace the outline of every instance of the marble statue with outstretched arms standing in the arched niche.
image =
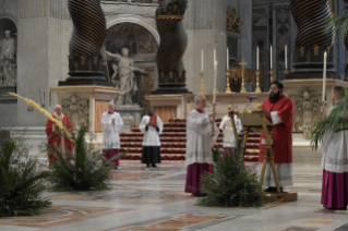
[(111, 82), (115, 87), (121, 89), (121, 93), (117, 94), (115, 104), (134, 105), (132, 97), (139, 90), (134, 72), (145, 73), (145, 71), (134, 66), (134, 61), (129, 58), (128, 48), (122, 48), (121, 53), (122, 54), (106, 51), (108, 61), (117, 62), (111, 64), (113, 70)]

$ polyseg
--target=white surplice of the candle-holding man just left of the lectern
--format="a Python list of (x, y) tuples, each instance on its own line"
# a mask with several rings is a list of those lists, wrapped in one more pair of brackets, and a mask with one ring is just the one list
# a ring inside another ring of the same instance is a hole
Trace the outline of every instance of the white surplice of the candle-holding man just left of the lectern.
[(215, 135), (212, 136), (213, 121), (208, 114), (192, 110), (187, 121), (187, 156), (185, 166), (194, 162), (213, 163), (212, 147), (218, 136), (218, 127), (214, 123)]

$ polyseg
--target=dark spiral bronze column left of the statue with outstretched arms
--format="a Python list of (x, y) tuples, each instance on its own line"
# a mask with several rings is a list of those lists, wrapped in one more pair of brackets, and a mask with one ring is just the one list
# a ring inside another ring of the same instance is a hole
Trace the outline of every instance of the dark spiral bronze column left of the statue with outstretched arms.
[(73, 34), (69, 46), (69, 75), (59, 85), (109, 85), (103, 71), (100, 48), (106, 22), (100, 0), (69, 0)]

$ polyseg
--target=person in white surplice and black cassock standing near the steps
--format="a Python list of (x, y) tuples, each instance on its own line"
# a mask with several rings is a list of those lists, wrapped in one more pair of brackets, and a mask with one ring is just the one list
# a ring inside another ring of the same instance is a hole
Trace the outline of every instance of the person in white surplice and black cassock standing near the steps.
[(155, 115), (155, 109), (148, 108), (148, 115), (144, 115), (139, 129), (144, 133), (142, 163), (156, 168), (160, 162), (160, 139), (159, 135), (164, 130), (164, 124), (158, 115)]

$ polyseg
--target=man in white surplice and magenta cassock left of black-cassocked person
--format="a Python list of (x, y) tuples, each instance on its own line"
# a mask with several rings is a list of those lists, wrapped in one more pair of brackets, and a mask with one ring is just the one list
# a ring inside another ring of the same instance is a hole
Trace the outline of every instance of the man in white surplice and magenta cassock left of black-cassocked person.
[[(120, 134), (123, 126), (123, 120), (121, 115), (115, 111), (115, 105), (112, 101), (108, 104), (108, 111), (101, 115), (103, 127), (103, 155), (106, 159), (111, 159), (120, 153)], [(112, 160), (113, 168), (117, 169), (120, 166), (119, 158)]]

